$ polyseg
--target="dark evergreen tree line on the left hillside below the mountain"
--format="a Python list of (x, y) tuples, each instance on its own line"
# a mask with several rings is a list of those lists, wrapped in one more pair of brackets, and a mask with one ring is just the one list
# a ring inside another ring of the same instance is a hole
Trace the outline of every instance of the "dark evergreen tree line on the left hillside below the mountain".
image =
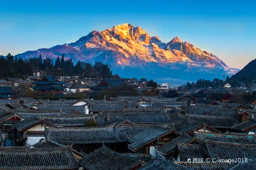
[(72, 58), (66, 59), (64, 55), (58, 57), (53, 63), (51, 58), (43, 60), (39, 58), (31, 58), (23, 60), (23, 58), (14, 57), (10, 53), (3, 57), (0, 56), (0, 78), (12, 77), (24, 79), (26, 76), (33, 75), (32, 70), (42, 70), (48, 75), (56, 76), (73, 76), (82, 75), (84, 78), (111, 78), (111, 65), (96, 62), (94, 65), (79, 61), (74, 65)]

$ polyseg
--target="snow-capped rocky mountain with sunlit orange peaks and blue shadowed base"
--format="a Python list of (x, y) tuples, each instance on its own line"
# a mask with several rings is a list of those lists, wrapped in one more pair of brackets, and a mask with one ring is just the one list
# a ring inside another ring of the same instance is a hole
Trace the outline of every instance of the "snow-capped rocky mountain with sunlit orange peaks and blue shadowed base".
[(233, 75), (239, 69), (229, 68), (215, 55), (201, 51), (188, 42), (174, 37), (169, 43), (150, 37), (139, 26), (122, 24), (102, 32), (93, 30), (74, 43), (57, 45), (18, 54), (22, 58), (52, 58), (64, 54), (73, 61), (111, 64), (114, 72), (123, 77), (221, 78), (223, 73)]

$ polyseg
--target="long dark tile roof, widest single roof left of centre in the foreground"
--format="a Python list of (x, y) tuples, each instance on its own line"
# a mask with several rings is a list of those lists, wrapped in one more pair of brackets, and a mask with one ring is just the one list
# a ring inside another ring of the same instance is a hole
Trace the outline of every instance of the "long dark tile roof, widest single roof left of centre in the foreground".
[(45, 138), (60, 144), (126, 142), (127, 138), (148, 126), (110, 125), (103, 127), (46, 127)]

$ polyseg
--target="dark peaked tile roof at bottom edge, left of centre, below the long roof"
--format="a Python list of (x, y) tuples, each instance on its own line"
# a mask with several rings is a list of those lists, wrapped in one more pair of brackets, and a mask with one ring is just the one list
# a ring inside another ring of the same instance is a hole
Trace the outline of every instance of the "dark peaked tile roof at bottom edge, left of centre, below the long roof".
[(131, 170), (140, 164), (140, 159), (116, 153), (103, 144), (81, 158), (79, 164), (86, 170)]

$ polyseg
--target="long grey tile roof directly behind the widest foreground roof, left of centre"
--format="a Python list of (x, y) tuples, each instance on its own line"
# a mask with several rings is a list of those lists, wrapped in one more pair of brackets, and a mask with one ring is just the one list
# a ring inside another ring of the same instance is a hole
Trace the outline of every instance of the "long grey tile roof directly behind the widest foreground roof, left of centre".
[(40, 116), (39, 118), (53, 124), (54, 126), (68, 126), (68, 127), (79, 127), (83, 126), (89, 119), (96, 121), (96, 115), (81, 115), (81, 116), (65, 116), (65, 117), (49, 117)]

